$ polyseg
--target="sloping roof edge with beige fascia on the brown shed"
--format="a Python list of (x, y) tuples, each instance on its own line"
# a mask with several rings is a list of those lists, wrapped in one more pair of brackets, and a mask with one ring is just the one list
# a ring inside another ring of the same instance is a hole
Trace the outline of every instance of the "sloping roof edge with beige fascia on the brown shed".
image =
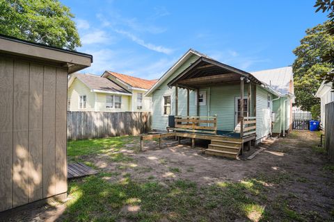
[(93, 56), (86, 53), (19, 40), (6, 35), (0, 35), (0, 54), (65, 67), (70, 74), (90, 67), (93, 62)]

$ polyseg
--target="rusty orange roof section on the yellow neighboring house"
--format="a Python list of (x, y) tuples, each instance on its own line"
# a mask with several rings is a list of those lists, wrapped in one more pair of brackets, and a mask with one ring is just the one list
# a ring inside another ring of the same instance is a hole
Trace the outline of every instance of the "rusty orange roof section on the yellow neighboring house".
[(127, 83), (128, 85), (136, 88), (141, 88), (141, 89), (150, 89), (152, 85), (157, 83), (157, 79), (154, 80), (146, 80), (143, 78), (138, 78), (134, 76), (128, 76), (125, 74), (118, 74), (117, 72), (114, 71), (106, 71), (108, 74), (111, 74), (115, 76), (116, 78), (122, 80), (123, 82)]

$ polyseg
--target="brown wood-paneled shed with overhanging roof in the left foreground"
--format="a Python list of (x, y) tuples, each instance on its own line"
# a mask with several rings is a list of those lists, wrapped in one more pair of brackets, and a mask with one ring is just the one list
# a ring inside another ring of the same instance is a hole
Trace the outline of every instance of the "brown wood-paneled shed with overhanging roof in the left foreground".
[(67, 74), (93, 56), (0, 35), (0, 212), (67, 192)]

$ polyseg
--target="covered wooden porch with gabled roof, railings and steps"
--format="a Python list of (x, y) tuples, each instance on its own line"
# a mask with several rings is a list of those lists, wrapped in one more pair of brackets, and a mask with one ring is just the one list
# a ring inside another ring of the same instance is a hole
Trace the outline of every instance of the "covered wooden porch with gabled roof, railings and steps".
[[(170, 101), (175, 115), (169, 117), (168, 133), (174, 133), (179, 141), (180, 137), (191, 138), (192, 146), (195, 139), (208, 139), (211, 143), (205, 153), (237, 157), (243, 153), (245, 143), (250, 148), (250, 141), (256, 139), (258, 84), (261, 82), (245, 71), (210, 58), (198, 58), (167, 84), (175, 89)], [(185, 100), (184, 96), (179, 98), (184, 90)], [(194, 93), (196, 99), (191, 99)], [(184, 103), (186, 112), (180, 112)]]

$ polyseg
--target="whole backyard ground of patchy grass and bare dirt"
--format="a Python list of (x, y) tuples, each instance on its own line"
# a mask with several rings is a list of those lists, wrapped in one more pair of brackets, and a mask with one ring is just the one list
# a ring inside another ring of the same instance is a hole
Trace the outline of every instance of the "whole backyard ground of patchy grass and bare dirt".
[(269, 139), (250, 161), (202, 155), (190, 143), (148, 142), (138, 152), (138, 137), (68, 142), (69, 161), (100, 173), (70, 180), (58, 220), (334, 221), (334, 165), (316, 148), (318, 137)]

